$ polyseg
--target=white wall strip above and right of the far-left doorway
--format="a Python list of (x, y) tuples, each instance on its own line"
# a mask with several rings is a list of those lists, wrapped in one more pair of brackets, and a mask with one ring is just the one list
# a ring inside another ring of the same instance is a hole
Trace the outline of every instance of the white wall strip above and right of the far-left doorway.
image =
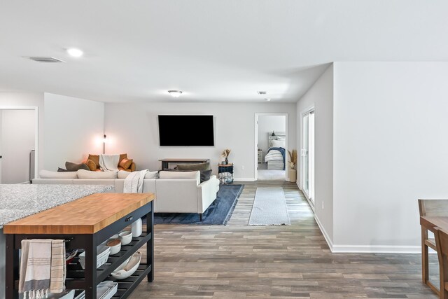
[(38, 170), (43, 165), (43, 93), (42, 92), (0, 92), (0, 109), (9, 107), (37, 107), (38, 108)]

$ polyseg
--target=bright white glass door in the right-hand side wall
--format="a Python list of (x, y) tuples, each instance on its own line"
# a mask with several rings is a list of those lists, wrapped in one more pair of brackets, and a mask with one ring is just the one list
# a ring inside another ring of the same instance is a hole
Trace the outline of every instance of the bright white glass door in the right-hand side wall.
[(314, 108), (302, 113), (302, 191), (314, 205)]

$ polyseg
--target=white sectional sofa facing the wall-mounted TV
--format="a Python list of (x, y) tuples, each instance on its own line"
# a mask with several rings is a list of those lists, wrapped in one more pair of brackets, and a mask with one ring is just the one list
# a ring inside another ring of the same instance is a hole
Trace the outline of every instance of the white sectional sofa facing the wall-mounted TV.
[[(48, 172), (43, 170), (39, 179), (33, 179), (36, 184), (81, 184), (81, 185), (112, 185), (116, 193), (123, 193), (125, 176), (120, 172)], [(160, 172), (160, 178), (155, 179), (155, 173), (147, 173), (143, 183), (144, 193), (154, 193), (155, 213), (202, 213), (216, 200), (219, 190), (219, 180), (212, 175), (209, 180), (200, 183), (200, 172)], [(148, 177), (148, 179), (147, 179)]]

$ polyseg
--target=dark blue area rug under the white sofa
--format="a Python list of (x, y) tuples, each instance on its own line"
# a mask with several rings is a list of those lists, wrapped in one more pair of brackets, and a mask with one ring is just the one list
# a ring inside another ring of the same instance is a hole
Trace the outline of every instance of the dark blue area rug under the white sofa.
[(196, 213), (155, 213), (154, 224), (225, 225), (237, 205), (244, 185), (220, 185), (216, 204), (204, 211), (202, 221)]

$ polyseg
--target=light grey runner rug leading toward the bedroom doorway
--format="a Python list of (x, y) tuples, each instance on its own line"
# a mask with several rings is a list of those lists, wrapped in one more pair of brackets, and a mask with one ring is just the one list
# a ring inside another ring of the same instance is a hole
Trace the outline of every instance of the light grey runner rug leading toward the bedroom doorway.
[(257, 188), (248, 225), (290, 224), (283, 188)]

